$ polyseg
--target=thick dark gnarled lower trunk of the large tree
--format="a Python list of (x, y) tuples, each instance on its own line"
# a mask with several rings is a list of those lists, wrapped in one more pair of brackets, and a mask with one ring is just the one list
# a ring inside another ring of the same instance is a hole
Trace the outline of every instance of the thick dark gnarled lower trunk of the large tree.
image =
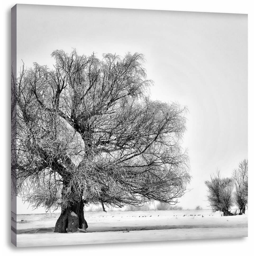
[(80, 201), (77, 201), (70, 206), (61, 210), (54, 232), (67, 233), (76, 232), (78, 228), (86, 230), (88, 228), (87, 222), (84, 219), (82, 196)]

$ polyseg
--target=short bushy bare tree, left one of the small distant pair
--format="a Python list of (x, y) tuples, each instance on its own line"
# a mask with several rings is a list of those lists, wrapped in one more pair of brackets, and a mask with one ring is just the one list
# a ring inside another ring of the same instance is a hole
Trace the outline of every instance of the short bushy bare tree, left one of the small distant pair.
[(212, 210), (222, 211), (223, 216), (233, 215), (229, 211), (233, 206), (233, 180), (232, 178), (221, 178), (220, 171), (212, 174), (210, 181), (205, 181), (208, 188), (208, 201)]

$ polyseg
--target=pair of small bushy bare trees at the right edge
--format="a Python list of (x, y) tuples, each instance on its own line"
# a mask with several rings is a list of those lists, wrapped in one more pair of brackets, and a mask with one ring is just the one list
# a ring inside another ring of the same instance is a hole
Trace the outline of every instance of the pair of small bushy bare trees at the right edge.
[(221, 177), (217, 170), (216, 175), (211, 175), (210, 181), (205, 181), (205, 185), (208, 188), (207, 199), (214, 212), (222, 211), (223, 216), (233, 215), (230, 209), (236, 205), (240, 215), (245, 213), (248, 204), (248, 160), (239, 163), (232, 177)]

